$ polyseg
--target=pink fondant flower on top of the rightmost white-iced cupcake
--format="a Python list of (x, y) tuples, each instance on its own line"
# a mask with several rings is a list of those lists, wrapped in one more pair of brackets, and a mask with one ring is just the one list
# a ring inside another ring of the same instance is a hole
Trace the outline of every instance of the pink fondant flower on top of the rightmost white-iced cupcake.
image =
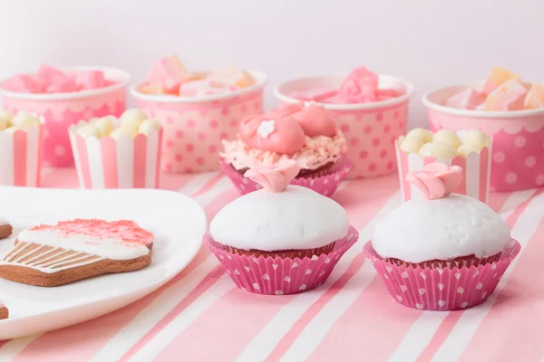
[(429, 200), (436, 200), (452, 194), (462, 180), (462, 168), (449, 167), (439, 162), (429, 164), (423, 169), (413, 171), (406, 181), (418, 186)]

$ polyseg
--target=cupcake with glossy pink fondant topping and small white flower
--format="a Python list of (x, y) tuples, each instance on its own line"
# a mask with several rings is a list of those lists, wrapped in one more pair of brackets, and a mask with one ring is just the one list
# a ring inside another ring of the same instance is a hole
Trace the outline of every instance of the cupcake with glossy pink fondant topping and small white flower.
[(238, 138), (224, 140), (223, 146), (221, 168), (242, 194), (259, 188), (243, 176), (250, 168), (293, 160), (300, 168), (293, 185), (322, 195), (332, 195), (352, 168), (344, 157), (344, 135), (327, 111), (313, 103), (290, 104), (243, 119)]

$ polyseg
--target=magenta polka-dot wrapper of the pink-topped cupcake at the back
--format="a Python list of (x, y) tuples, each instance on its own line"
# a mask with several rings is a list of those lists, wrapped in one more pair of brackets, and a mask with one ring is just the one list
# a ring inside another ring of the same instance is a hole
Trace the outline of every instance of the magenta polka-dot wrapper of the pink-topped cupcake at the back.
[[(221, 171), (223, 171), (225, 175), (230, 178), (234, 186), (236, 186), (240, 195), (246, 195), (261, 188), (260, 185), (240, 174), (223, 159), (219, 160), (219, 166), (221, 167)], [(352, 169), (353, 164), (344, 158), (330, 168), (328, 175), (296, 177), (291, 181), (290, 185), (307, 187), (316, 191), (318, 194), (330, 197), (335, 194), (340, 183)]]

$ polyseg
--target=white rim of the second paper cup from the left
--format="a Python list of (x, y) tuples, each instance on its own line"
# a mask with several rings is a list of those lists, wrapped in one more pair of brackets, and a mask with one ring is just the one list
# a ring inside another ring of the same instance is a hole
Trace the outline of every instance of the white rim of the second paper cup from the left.
[(244, 96), (255, 90), (262, 89), (267, 83), (267, 74), (265, 74), (264, 72), (251, 71), (251, 70), (248, 70), (247, 72), (251, 74), (251, 76), (256, 80), (256, 82), (241, 90), (233, 90), (233, 91), (229, 91), (228, 93), (209, 94), (209, 95), (198, 96), (198, 97), (180, 97), (180, 96), (171, 96), (171, 95), (163, 95), (163, 94), (145, 94), (138, 90), (138, 87), (140, 87), (141, 84), (143, 84), (143, 82), (140, 82), (131, 87), (131, 96), (134, 97), (136, 100), (147, 100), (147, 101), (155, 101), (160, 103), (180, 103), (180, 104), (206, 103), (206, 102), (211, 102), (216, 100), (228, 100), (230, 98)]

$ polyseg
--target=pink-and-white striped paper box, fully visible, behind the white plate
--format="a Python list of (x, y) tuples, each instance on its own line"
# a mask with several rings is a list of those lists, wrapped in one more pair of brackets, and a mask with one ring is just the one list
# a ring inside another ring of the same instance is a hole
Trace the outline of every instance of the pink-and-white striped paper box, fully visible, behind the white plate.
[(83, 137), (70, 129), (82, 188), (158, 188), (162, 129), (114, 139)]

